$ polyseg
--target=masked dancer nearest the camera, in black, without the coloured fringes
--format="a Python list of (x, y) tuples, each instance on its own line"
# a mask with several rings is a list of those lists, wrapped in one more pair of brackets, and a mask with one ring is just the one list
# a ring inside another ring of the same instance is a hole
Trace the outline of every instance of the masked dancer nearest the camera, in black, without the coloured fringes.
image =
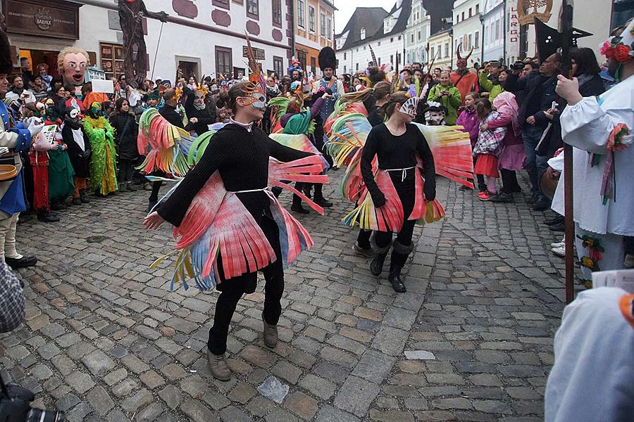
[[(268, 347), (275, 347), (278, 343), (277, 324), (282, 312), (280, 300), (284, 291), (284, 271), (278, 224), (271, 213), (271, 199), (263, 191), (268, 184), (268, 158), (272, 156), (288, 162), (311, 154), (280, 145), (254, 125), (253, 122), (263, 117), (266, 98), (263, 93), (261, 96), (249, 94), (247, 89), (250, 84), (239, 83), (231, 87), (229, 107), (235, 114), (235, 120), (232, 119), (213, 135), (213, 141), (207, 146), (200, 162), (187, 173), (165, 203), (146, 217), (144, 224), (148, 229), (157, 228), (163, 221), (180, 226), (194, 196), (218, 170), (225, 189), (237, 194), (275, 250), (277, 260), (262, 270), (266, 280), (262, 314), (264, 343)], [(255, 291), (257, 272), (242, 274), (229, 280), (225, 280), (223, 274), (222, 260), (218, 257), (220, 280), (216, 289), (221, 293), (216, 302), (213, 326), (209, 330), (208, 357), (213, 376), (228, 381), (231, 372), (225, 361), (225, 351), (229, 324), (242, 295)]]

